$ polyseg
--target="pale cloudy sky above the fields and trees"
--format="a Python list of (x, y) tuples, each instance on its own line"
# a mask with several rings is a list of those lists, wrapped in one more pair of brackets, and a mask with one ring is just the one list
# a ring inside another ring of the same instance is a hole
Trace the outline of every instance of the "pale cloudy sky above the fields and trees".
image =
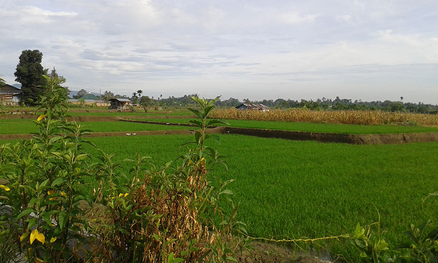
[(437, 0), (1, 0), (0, 75), (71, 90), (438, 104)]

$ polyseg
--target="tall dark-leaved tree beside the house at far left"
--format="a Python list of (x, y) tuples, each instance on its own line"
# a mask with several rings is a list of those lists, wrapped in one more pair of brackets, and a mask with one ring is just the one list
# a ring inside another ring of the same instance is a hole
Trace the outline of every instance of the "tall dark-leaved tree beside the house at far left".
[(40, 93), (43, 88), (40, 86), (45, 84), (43, 74), (47, 74), (41, 66), (43, 53), (38, 49), (23, 50), (20, 55), (20, 62), (17, 64), (17, 69), (14, 73), (15, 81), (22, 84), (23, 100), (27, 104), (33, 104), (39, 100)]

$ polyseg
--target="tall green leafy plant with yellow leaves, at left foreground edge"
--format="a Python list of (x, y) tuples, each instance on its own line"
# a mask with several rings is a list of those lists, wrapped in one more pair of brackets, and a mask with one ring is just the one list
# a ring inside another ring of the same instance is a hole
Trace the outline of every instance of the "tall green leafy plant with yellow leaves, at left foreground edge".
[(30, 140), (0, 146), (2, 234), (11, 252), (7, 262), (77, 261), (71, 240), (82, 241), (80, 201), (90, 195), (77, 190), (88, 175), (89, 156), (83, 151), (88, 131), (67, 121), (64, 79), (44, 76), (40, 132)]

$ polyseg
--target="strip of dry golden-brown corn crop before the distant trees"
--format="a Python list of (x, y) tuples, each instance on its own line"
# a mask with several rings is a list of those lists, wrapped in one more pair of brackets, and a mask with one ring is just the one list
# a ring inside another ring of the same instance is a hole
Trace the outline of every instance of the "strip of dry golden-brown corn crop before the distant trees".
[(211, 118), (258, 120), (258, 121), (291, 121), (312, 123), (337, 123), (358, 125), (380, 124), (419, 124), (438, 125), (438, 115), (403, 112), (371, 111), (371, 110), (237, 110), (216, 109)]

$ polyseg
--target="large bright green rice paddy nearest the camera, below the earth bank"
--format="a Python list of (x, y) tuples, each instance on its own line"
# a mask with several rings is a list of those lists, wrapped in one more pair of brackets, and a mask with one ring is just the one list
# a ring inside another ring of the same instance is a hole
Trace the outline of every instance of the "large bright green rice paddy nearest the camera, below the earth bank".
[[(438, 190), (438, 143), (349, 145), (220, 135), (219, 153), (229, 172), (212, 175), (237, 181), (230, 188), (241, 202), (239, 218), (250, 235), (265, 238), (323, 237), (350, 233), (380, 212), (385, 240), (406, 241), (409, 223), (437, 217), (438, 202), (421, 200)], [(90, 138), (117, 159), (134, 153), (160, 164), (175, 159), (192, 136)], [(116, 145), (123, 145), (117, 147)], [(98, 154), (91, 150), (92, 154)]]

